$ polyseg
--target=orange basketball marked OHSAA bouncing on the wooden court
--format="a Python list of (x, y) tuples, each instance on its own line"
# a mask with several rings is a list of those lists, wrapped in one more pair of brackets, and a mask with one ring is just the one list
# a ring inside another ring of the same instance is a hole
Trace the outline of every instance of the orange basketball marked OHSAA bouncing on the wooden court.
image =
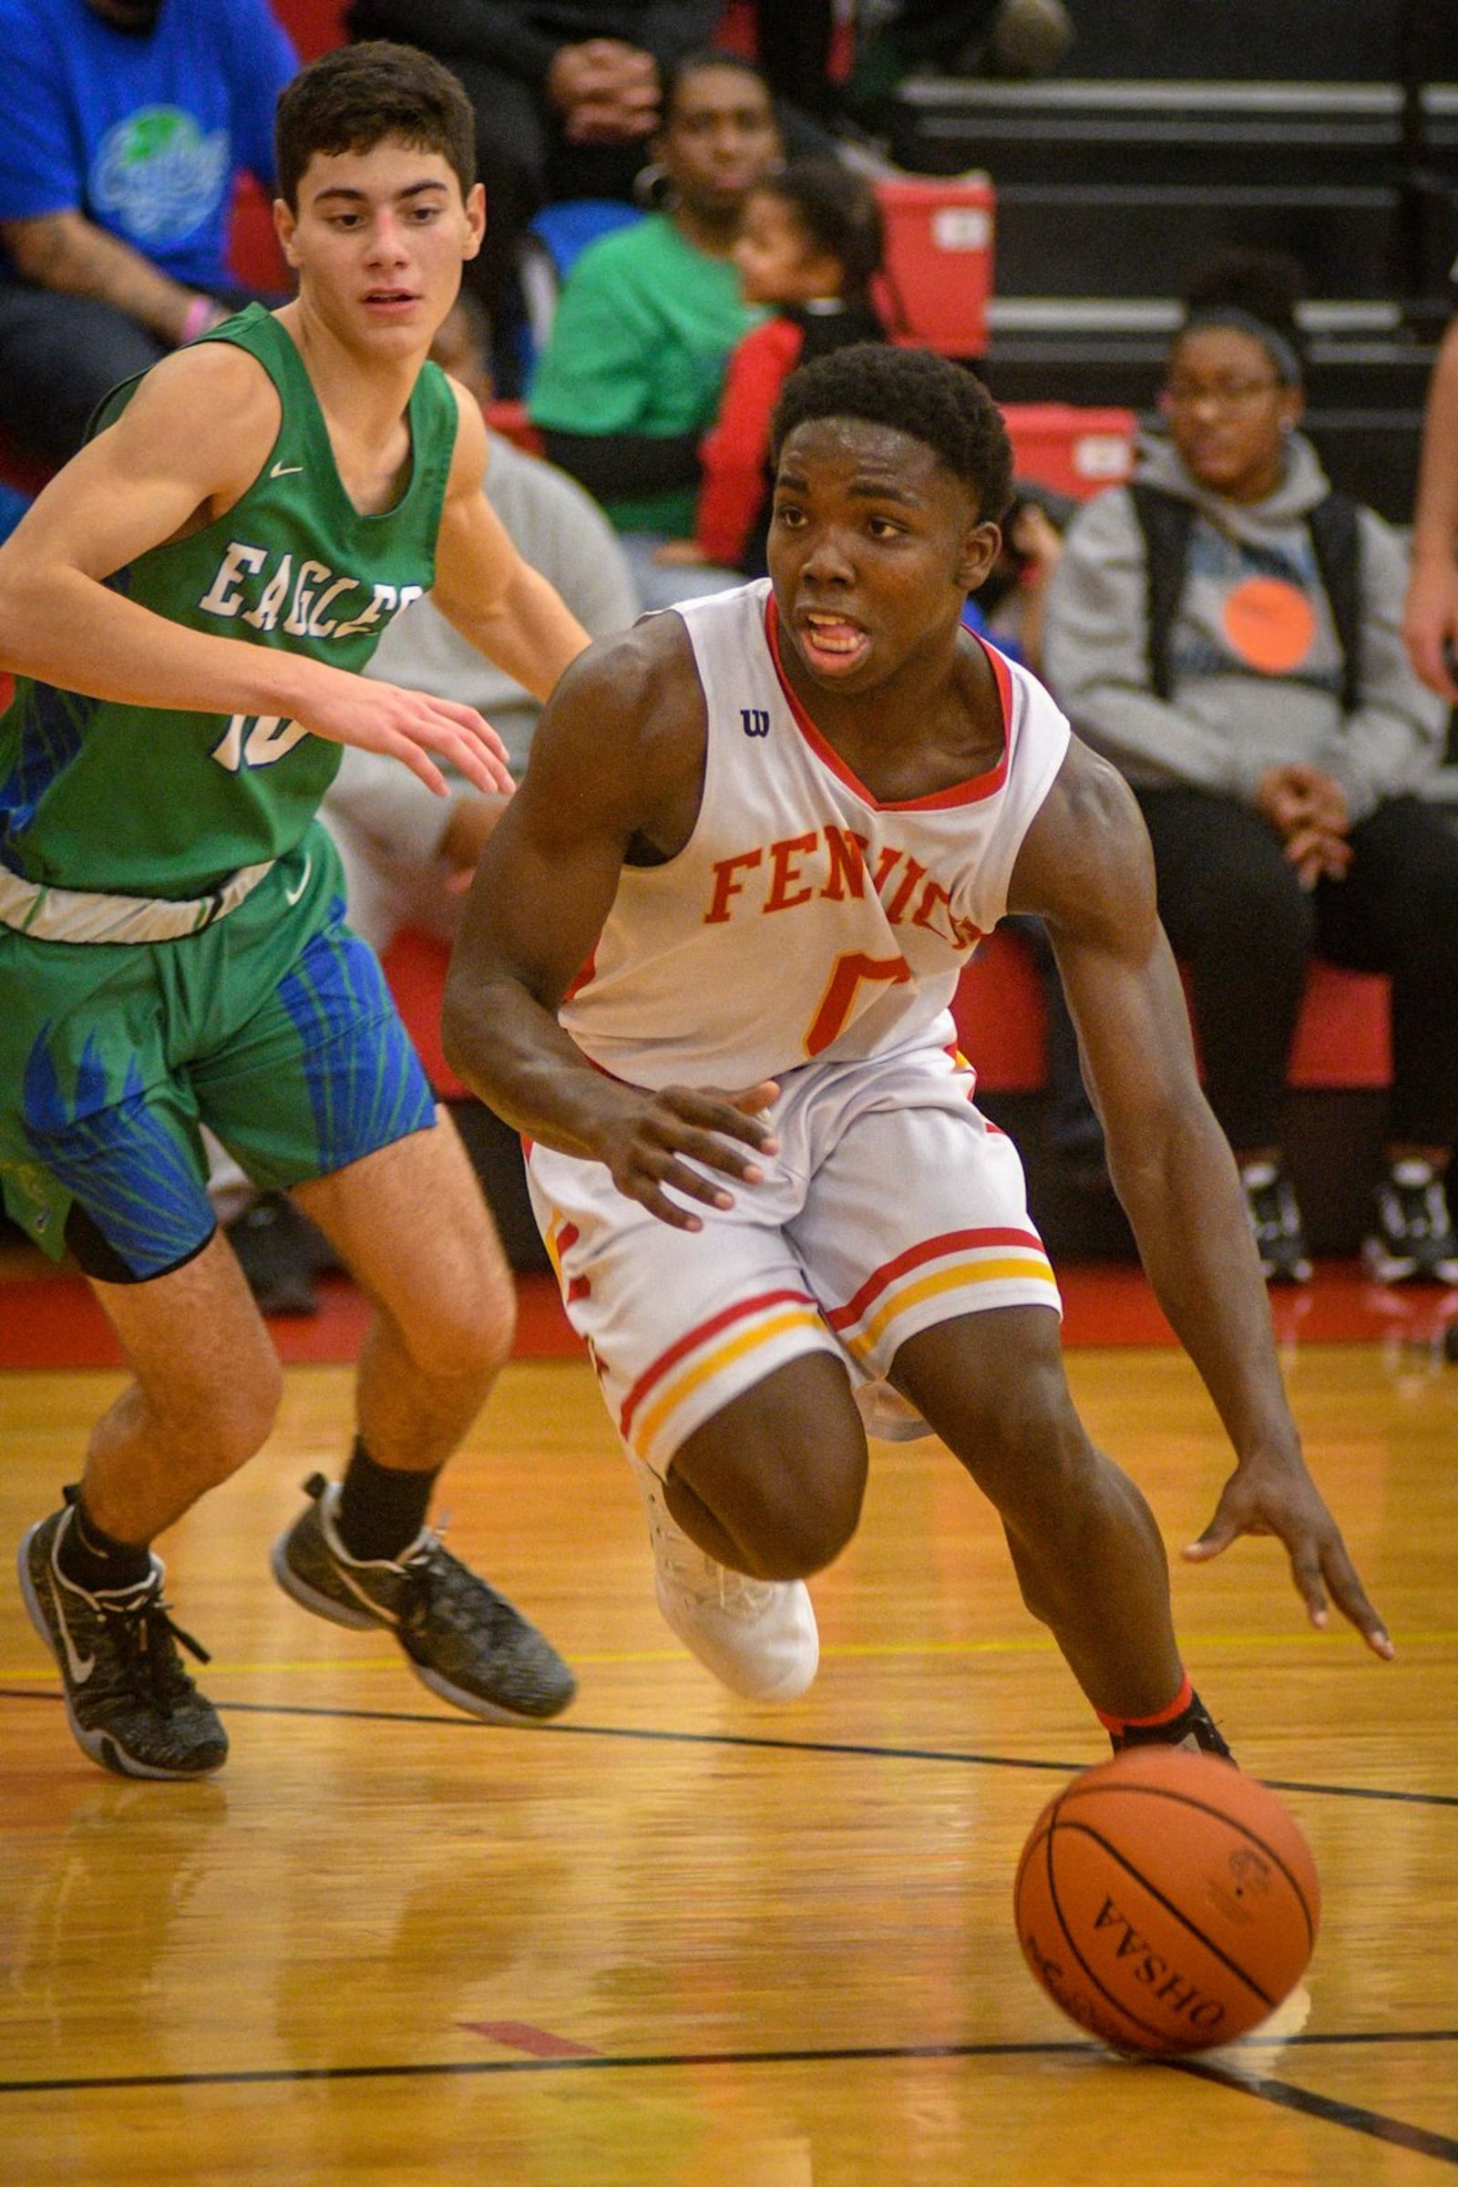
[(1124, 2051), (1231, 2043), (1296, 1986), (1320, 1916), (1283, 1802), (1215, 1754), (1130, 1747), (1038, 1815), (1019, 1942), (1069, 2019)]

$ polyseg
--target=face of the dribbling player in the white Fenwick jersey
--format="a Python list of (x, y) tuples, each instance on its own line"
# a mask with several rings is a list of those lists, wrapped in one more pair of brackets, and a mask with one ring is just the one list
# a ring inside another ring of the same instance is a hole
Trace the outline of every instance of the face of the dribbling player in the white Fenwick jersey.
[(769, 577), (783, 643), (826, 689), (872, 689), (955, 641), (999, 545), (971, 490), (912, 433), (820, 418), (780, 448)]

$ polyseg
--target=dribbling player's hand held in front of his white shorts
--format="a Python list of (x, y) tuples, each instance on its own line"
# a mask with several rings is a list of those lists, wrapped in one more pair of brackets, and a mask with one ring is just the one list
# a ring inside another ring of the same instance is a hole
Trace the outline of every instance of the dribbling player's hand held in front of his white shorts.
[(632, 1109), (601, 1133), (599, 1150), (619, 1192), (640, 1201), (669, 1229), (697, 1231), (704, 1218), (671, 1201), (667, 1188), (704, 1207), (732, 1207), (734, 1194), (724, 1177), (743, 1185), (763, 1181), (756, 1157), (778, 1153), (765, 1115), (780, 1091), (772, 1078), (741, 1094), (719, 1087), (636, 1091)]

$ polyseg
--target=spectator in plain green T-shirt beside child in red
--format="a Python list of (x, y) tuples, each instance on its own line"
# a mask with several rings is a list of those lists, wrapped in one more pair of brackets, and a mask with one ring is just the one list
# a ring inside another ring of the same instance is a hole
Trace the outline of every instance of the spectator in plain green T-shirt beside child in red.
[(581, 479), (623, 534), (647, 608), (739, 584), (734, 571), (665, 569), (693, 529), (699, 440), (754, 313), (730, 249), (743, 203), (780, 157), (763, 77), (737, 55), (682, 63), (654, 144), (665, 203), (575, 262), (531, 387), (546, 455)]

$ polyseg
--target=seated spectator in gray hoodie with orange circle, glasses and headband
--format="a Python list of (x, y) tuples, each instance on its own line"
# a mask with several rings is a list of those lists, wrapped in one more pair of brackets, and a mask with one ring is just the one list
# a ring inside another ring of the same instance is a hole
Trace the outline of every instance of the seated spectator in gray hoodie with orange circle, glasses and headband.
[(1281, 1163), (1312, 951), (1392, 978), (1386, 1174), (1364, 1260), (1458, 1284), (1458, 835), (1416, 794), (1447, 709), (1401, 643), (1406, 555), (1296, 431), (1290, 330), (1198, 308), (1130, 488), (1091, 501), (1054, 573), (1045, 671), (1130, 781), (1189, 969), (1207, 1091), (1268, 1277), (1312, 1273)]

